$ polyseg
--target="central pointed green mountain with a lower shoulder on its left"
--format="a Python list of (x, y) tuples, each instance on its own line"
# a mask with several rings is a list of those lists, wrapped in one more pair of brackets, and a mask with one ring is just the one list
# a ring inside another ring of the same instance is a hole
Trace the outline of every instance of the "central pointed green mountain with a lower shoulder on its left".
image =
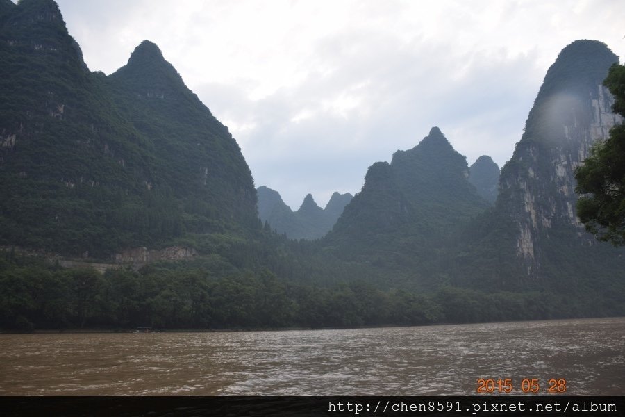
[(342, 259), (429, 275), (460, 225), (489, 205), (468, 177), (465, 156), (433, 127), (391, 163), (369, 167), (325, 244)]

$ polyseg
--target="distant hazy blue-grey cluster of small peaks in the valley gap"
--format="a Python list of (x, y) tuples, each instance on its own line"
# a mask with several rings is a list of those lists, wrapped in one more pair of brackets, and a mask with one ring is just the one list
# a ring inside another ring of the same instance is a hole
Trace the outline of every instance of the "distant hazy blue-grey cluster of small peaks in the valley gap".
[(290, 239), (317, 239), (332, 229), (335, 222), (349, 203), (352, 196), (349, 193), (333, 193), (326, 208), (321, 208), (313, 199), (313, 195), (306, 195), (299, 209), (295, 212), (283, 202), (280, 194), (260, 186), (258, 193), (258, 217), (262, 222), (280, 234)]

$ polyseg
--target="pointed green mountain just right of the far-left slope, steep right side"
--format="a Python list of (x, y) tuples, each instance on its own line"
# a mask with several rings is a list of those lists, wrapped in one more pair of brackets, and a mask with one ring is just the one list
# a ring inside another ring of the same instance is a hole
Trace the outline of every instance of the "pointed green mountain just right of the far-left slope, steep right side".
[(154, 180), (185, 199), (189, 231), (219, 231), (235, 220), (256, 224), (256, 190), (237, 142), (149, 41), (108, 77), (120, 110), (150, 138)]

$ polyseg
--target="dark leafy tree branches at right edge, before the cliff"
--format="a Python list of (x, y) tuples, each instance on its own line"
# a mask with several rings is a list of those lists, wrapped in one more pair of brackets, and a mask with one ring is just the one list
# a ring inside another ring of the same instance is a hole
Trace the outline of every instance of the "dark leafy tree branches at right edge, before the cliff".
[[(625, 67), (612, 65), (603, 85), (615, 96), (612, 110), (625, 117)], [(617, 124), (607, 140), (593, 145), (575, 179), (581, 194), (577, 215), (586, 230), (599, 240), (625, 245), (625, 124)]]

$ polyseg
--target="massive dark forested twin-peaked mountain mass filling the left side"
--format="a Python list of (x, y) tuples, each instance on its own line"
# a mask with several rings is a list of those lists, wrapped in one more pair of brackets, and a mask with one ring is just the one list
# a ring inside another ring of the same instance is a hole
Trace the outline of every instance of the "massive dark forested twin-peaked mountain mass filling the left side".
[(237, 143), (158, 47), (90, 72), (51, 0), (0, 6), (0, 194), (0, 245), (72, 256), (260, 227)]

